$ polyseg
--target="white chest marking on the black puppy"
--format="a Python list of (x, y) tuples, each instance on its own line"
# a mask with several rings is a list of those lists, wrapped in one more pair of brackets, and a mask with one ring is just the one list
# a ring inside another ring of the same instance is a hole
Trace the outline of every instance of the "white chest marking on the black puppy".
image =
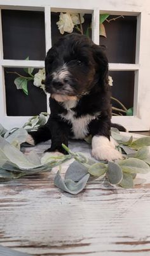
[(92, 115), (76, 118), (72, 110), (68, 110), (66, 115), (61, 114), (60, 116), (72, 124), (74, 139), (84, 139), (88, 135), (88, 124), (95, 119)]

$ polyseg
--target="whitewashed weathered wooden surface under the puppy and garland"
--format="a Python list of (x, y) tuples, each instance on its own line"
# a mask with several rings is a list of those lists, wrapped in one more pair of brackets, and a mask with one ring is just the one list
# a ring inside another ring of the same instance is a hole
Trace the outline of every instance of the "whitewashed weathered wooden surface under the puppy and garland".
[[(69, 146), (90, 155), (85, 142)], [(72, 196), (53, 185), (57, 169), (1, 183), (0, 245), (37, 256), (150, 255), (150, 174), (140, 175), (136, 182), (144, 184), (134, 189), (97, 182)]]

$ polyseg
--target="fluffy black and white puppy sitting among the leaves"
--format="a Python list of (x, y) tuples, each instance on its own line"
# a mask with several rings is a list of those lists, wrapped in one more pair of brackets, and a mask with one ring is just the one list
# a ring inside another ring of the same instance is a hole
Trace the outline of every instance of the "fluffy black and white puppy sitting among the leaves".
[(68, 139), (84, 139), (92, 134), (95, 159), (120, 159), (110, 139), (111, 94), (108, 61), (102, 47), (80, 34), (68, 34), (48, 51), (45, 60), (45, 90), (50, 93), (51, 114), (27, 142), (51, 139), (48, 152), (62, 152)]

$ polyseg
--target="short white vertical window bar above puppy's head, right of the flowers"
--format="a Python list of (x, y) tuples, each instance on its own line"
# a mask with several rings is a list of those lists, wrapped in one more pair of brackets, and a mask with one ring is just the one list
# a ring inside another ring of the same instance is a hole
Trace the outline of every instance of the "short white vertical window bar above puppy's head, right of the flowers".
[(99, 8), (95, 8), (92, 13), (92, 40), (99, 45)]

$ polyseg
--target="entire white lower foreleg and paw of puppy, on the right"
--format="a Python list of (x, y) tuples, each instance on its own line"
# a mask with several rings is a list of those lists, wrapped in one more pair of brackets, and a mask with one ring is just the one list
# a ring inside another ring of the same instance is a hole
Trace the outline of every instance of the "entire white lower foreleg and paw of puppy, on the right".
[(116, 141), (111, 141), (105, 136), (93, 136), (92, 138), (92, 156), (97, 160), (112, 161), (122, 159), (121, 153), (115, 149)]

